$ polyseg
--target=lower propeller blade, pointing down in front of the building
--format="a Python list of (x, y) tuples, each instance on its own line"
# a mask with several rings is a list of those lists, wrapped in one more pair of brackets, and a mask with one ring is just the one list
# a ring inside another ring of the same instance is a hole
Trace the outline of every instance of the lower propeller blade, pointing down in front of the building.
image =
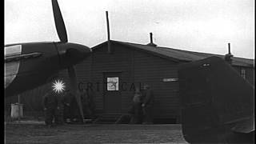
[(80, 114), (82, 116), (82, 120), (84, 119), (84, 115), (83, 115), (83, 110), (82, 110), (82, 102), (81, 102), (81, 94), (78, 91), (78, 82), (77, 82), (77, 78), (75, 75), (75, 71), (74, 71), (74, 66), (70, 66), (68, 68), (68, 73), (69, 73), (69, 77), (70, 77), (70, 91), (72, 94), (74, 94), (75, 98), (77, 99), (78, 102), (78, 107), (80, 110)]

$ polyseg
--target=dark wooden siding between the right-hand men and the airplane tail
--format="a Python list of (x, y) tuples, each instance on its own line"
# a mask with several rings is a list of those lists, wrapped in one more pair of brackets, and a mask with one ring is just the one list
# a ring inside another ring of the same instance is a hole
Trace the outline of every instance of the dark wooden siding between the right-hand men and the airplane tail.
[(179, 115), (178, 63), (134, 50), (134, 82), (148, 83), (154, 91), (154, 118), (176, 118)]

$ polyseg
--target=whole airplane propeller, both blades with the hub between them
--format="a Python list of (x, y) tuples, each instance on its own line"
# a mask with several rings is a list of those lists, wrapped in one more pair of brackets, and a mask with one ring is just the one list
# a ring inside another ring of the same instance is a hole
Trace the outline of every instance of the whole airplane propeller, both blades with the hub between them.
[[(74, 49), (74, 44), (68, 43), (67, 40), (67, 35), (66, 35), (66, 27), (62, 18), (62, 13), (61, 10), (59, 9), (58, 2), (57, 0), (52, 0), (52, 5), (53, 5), (53, 11), (54, 11), (54, 22), (55, 22), (55, 27), (58, 33), (58, 38), (60, 39), (61, 43), (57, 44), (57, 47), (60, 53), (60, 57), (62, 57), (61, 60), (63, 60), (65, 63), (65, 67), (67, 66), (68, 68), (68, 74), (70, 77), (70, 92), (75, 96), (77, 102), (78, 102), (78, 107), (80, 110), (80, 114), (82, 116), (82, 119), (84, 119), (83, 115), (83, 110), (82, 110), (82, 102), (81, 102), (81, 97), (78, 91), (78, 82), (74, 70), (74, 66), (72, 64), (76, 61), (81, 60), (84, 58), (86, 53), (88, 54), (88, 48), (85, 49), (84, 46), (76, 44), (75, 46), (77, 49)], [(62, 49), (61, 49), (62, 48)], [(79, 48), (79, 50), (78, 50)], [(85, 54), (81, 54), (81, 50), (84, 49)], [(86, 51), (87, 50), (87, 51)], [(62, 53), (62, 54), (61, 54)], [(75, 58), (74, 58), (75, 57)]]

